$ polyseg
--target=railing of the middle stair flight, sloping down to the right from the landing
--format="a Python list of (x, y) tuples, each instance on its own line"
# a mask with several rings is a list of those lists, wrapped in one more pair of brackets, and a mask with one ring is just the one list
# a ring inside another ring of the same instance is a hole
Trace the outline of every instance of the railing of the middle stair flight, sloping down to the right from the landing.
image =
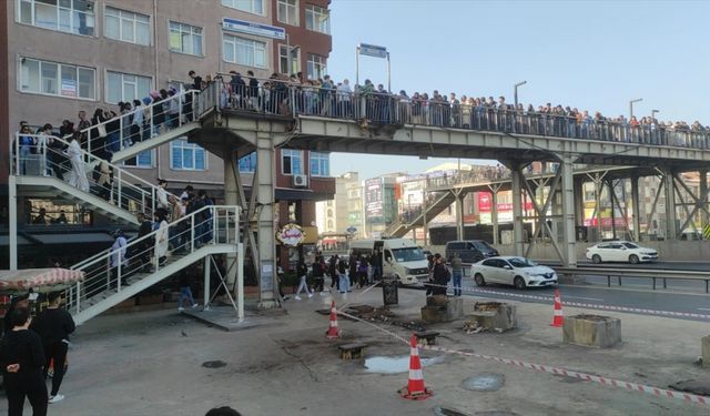
[[(23, 138), (32, 140), (34, 144), (21, 144)], [(161, 192), (158, 186), (83, 150), (79, 151), (79, 156), (83, 161), (84, 172), (74, 172), (69, 149), (70, 143), (60, 138), (18, 133), (12, 143), (10, 172), (17, 176), (68, 180), (75, 187), (77, 192), (73, 194), (78, 197), (81, 197), (81, 193), (90, 193), (133, 214), (142, 212), (153, 215)], [(87, 172), (90, 166), (101, 171), (101, 163), (111, 171), (108, 184), (94, 175), (97, 171)], [(80, 179), (82, 175), (85, 182)], [(174, 196), (168, 192), (165, 194), (166, 197)]]

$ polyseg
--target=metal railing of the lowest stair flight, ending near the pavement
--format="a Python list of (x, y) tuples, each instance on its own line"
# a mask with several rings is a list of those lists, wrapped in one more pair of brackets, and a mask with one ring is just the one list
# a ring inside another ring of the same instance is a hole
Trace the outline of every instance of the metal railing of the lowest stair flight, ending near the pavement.
[[(84, 278), (64, 291), (67, 310), (79, 315), (93, 307), (91, 316), (95, 316), (168, 277), (165, 271), (178, 262), (192, 263), (212, 254), (205, 248), (225, 245), (235, 251), (240, 241), (240, 206), (203, 206), (162, 230), (74, 264), (70, 268), (84, 272)], [(169, 247), (164, 256), (160, 256), (162, 253), (159, 253), (159, 247), (164, 244), (163, 239), (168, 240)], [(200, 255), (201, 251), (204, 255)], [(195, 258), (195, 255), (199, 257)], [(181, 265), (179, 270), (187, 265)], [(83, 316), (81, 321), (87, 318)]]

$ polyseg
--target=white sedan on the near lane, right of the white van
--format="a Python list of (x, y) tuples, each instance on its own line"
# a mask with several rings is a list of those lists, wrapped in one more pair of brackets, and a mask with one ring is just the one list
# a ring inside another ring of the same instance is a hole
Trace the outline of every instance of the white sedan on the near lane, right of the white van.
[(551, 286), (557, 284), (557, 273), (525, 257), (500, 256), (481, 260), (470, 266), (470, 274), (478, 286), (503, 283), (516, 288)]

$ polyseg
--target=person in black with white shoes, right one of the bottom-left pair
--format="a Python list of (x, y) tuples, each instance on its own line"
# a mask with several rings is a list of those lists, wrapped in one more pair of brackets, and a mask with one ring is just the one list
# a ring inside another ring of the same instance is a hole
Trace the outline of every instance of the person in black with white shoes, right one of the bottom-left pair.
[(64, 396), (59, 394), (59, 387), (64, 378), (69, 335), (74, 332), (77, 325), (71, 314), (60, 307), (62, 302), (60, 292), (50, 293), (48, 300), (49, 306), (32, 322), (30, 329), (38, 333), (42, 339), (42, 348), (47, 357), (44, 379), (47, 379), (50, 363), (52, 363), (54, 374), (52, 375), (49, 403), (57, 403), (64, 399)]

